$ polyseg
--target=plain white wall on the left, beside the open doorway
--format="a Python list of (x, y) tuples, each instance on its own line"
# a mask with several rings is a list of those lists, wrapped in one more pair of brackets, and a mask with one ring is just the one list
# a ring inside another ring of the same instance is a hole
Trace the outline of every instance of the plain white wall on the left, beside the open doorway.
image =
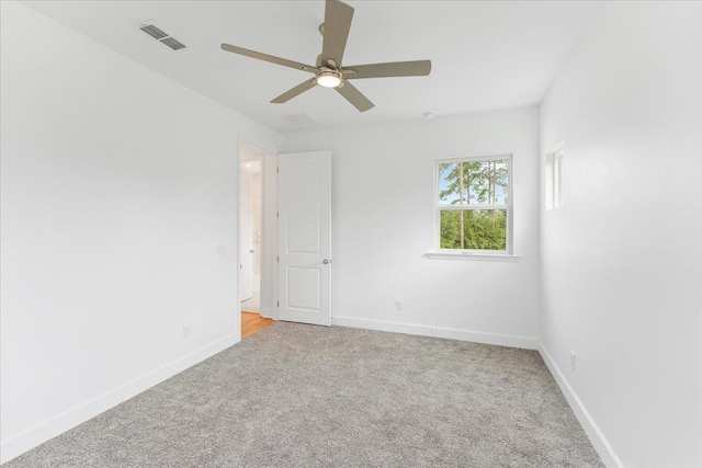
[(237, 141), (280, 136), (1, 4), (7, 460), (236, 342)]

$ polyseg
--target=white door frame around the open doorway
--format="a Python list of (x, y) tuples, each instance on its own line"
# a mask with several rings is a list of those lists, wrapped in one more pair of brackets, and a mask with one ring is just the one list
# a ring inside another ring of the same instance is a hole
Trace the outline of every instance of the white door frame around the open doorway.
[(241, 301), (239, 297), (239, 288), (241, 287), (241, 275), (239, 269), (241, 265), (241, 153), (242, 150), (253, 150), (260, 155), (261, 159), (261, 317), (268, 317), (278, 320), (278, 153), (273, 150), (265, 149), (260, 145), (250, 142), (248, 139), (239, 136), (237, 138), (237, 189), (236, 189), (236, 207), (237, 207), (237, 330), (239, 339), (241, 339)]

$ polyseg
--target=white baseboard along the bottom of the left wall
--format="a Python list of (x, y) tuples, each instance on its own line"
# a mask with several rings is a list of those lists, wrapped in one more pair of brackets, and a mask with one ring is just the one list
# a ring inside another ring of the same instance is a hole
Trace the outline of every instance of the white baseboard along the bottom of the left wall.
[(193, 351), (156, 370), (126, 383), (113, 390), (102, 393), (84, 403), (81, 403), (68, 411), (65, 411), (48, 421), (13, 437), (2, 441), (0, 444), (0, 464), (11, 460), (23, 453), (36, 447), (44, 442), (81, 424), (98, 414), (116, 407), (123, 401), (148, 390), (155, 385), (185, 370), (207, 357), (211, 357), (223, 350), (239, 342), (239, 334), (230, 334), (220, 340), (210, 343), (199, 350)]

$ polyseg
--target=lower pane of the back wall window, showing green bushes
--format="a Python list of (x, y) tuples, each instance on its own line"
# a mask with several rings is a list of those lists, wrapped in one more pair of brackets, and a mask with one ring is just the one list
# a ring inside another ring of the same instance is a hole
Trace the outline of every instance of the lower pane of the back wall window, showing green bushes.
[(441, 249), (507, 250), (507, 210), (442, 209), (440, 239)]

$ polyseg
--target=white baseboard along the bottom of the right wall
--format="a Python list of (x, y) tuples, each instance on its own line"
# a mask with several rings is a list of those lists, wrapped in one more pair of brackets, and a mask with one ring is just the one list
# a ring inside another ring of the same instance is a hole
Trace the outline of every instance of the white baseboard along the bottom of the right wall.
[(582, 404), (582, 401), (580, 401), (577, 393), (573, 390), (573, 387), (570, 387), (570, 384), (568, 384), (568, 380), (566, 380), (565, 376), (556, 365), (556, 362), (551, 357), (551, 354), (548, 354), (541, 342), (539, 342), (539, 353), (544, 359), (544, 363), (546, 363), (546, 367), (551, 370), (551, 375), (553, 375), (556, 384), (561, 387), (561, 391), (563, 391), (563, 395), (566, 397), (568, 404), (570, 404), (573, 412), (580, 422), (580, 425), (588, 435), (588, 438), (592, 443), (592, 446), (602, 459), (604, 466), (609, 468), (624, 468), (624, 465), (612, 449), (612, 446), (607, 442), (607, 438), (604, 438), (604, 434), (602, 434), (602, 431), (600, 431), (598, 425), (595, 423), (595, 420), (585, 408), (585, 404)]

